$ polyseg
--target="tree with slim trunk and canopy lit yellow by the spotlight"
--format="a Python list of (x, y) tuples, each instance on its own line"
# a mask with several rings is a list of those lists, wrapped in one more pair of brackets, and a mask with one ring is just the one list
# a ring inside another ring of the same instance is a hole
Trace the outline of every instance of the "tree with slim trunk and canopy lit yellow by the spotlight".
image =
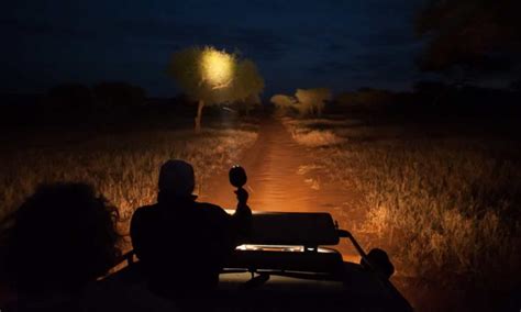
[(204, 105), (244, 101), (264, 89), (264, 79), (253, 62), (209, 46), (175, 53), (168, 74), (191, 100), (198, 102), (196, 132), (201, 130)]

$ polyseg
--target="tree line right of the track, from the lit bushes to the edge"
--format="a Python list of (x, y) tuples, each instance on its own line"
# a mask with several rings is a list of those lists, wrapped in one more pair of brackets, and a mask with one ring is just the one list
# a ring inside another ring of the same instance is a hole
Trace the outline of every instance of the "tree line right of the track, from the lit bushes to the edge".
[(479, 87), (421, 80), (412, 90), (359, 88), (333, 94), (328, 88), (297, 89), (295, 96), (275, 94), (270, 103), (280, 115), (320, 118), (341, 114), (442, 114), (442, 115), (519, 115), (521, 88)]

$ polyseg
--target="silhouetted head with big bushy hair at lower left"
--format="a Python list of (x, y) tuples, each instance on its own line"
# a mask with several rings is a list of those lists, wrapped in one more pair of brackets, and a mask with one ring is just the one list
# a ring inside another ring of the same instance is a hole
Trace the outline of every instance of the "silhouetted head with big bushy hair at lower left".
[(106, 275), (120, 254), (117, 219), (88, 185), (40, 186), (8, 234), (12, 282), (26, 292), (76, 291)]

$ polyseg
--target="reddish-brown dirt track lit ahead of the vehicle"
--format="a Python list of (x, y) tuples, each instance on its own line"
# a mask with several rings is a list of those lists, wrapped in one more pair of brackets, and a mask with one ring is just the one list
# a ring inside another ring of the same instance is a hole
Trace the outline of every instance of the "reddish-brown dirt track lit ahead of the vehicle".
[[(323, 168), (310, 167), (314, 157), (320, 155), (298, 145), (280, 121), (264, 120), (256, 143), (240, 161), (248, 176), (250, 207), (258, 211), (329, 212), (341, 227), (353, 230), (350, 211), (359, 215), (359, 209), (353, 204), (356, 193), (329, 182)], [(223, 168), (203, 187), (199, 200), (234, 209), (233, 190), (228, 181), (228, 168)], [(356, 260), (354, 250), (345, 243), (340, 247), (344, 257)]]

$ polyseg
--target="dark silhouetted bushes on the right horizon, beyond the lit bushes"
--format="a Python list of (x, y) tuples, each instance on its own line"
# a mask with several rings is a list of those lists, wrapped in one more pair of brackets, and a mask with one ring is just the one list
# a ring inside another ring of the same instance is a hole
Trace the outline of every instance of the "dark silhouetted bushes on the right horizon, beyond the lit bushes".
[(373, 115), (490, 116), (521, 112), (521, 92), (469, 83), (417, 81), (412, 92), (361, 88), (335, 97), (328, 112)]

